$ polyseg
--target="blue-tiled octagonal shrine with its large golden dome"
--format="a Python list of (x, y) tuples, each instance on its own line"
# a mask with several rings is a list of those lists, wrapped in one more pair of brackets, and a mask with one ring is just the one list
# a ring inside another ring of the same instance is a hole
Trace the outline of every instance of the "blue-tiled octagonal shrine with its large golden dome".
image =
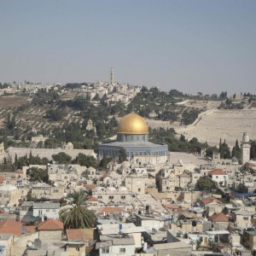
[(119, 150), (125, 148), (131, 163), (158, 164), (168, 158), (168, 146), (164, 143), (148, 142), (148, 125), (137, 113), (125, 115), (119, 122), (117, 139), (111, 143), (99, 144), (99, 160), (103, 155), (118, 159)]

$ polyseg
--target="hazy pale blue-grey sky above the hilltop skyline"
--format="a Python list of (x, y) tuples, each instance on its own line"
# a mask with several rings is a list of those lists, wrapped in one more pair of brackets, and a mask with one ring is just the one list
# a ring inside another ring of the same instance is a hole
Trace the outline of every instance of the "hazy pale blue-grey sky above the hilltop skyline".
[(0, 82), (256, 94), (255, 0), (0, 0)]

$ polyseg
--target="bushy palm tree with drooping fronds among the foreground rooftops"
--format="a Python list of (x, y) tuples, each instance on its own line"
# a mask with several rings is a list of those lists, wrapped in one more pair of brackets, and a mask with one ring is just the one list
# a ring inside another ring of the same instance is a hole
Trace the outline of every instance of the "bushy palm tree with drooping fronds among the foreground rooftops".
[(95, 214), (83, 205), (86, 196), (83, 190), (74, 191), (73, 204), (63, 207), (59, 212), (65, 229), (85, 229), (95, 226)]

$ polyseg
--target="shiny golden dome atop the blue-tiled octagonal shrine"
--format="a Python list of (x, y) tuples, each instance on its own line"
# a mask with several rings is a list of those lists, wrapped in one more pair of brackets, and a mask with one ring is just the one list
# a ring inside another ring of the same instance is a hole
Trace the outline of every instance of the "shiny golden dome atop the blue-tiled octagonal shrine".
[(120, 120), (118, 133), (148, 134), (148, 125), (137, 113), (129, 113)]

